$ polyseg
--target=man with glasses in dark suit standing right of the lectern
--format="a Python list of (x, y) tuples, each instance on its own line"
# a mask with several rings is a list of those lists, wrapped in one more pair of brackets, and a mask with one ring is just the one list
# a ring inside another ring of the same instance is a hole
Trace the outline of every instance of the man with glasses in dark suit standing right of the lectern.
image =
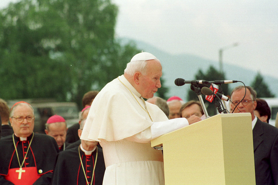
[[(234, 113), (250, 112), (252, 117), (253, 147), (256, 184), (278, 184), (278, 129), (260, 121), (254, 113), (257, 106), (256, 91), (250, 87), (238, 86), (231, 93)], [(242, 100), (243, 99), (243, 100)], [(242, 101), (241, 101), (242, 100)]]

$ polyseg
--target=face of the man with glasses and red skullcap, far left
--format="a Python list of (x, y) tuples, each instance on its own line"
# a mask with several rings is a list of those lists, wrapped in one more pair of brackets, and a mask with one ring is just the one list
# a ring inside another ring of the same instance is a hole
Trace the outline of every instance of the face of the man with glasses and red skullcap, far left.
[[(10, 117), (11, 126), (17, 137), (28, 137), (32, 134), (34, 130), (34, 119), (27, 121), (30, 117), (34, 118), (34, 113), (32, 108), (23, 103), (14, 107), (13, 115)], [(23, 121), (17, 121), (20, 117)]]

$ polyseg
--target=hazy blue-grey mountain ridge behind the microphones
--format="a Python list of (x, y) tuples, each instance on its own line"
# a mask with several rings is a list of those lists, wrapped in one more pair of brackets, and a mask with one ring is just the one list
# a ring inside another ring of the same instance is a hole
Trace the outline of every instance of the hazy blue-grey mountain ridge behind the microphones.
[[(205, 59), (203, 57), (193, 55), (193, 54), (170, 54), (165, 51), (162, 51), (155, 46), (147, 44), (143, 41), (133, 40), (128, 38), (122, 38), (124, 43), (128, 41), (132, 41), (136, 44), (137, 48), (143, 50), (145, 52), (152, 53), (156, 56), (162, 65), (162, 78), (165, 80), (164, 85), (169, 88), (166, 96), (179, 96), (184, 101), (187, 101), (187, 92), (190, 89), (189, 84), (185, 84), (184, 86), (175, 86), (176, 78), (183, 78), (185, 80), (197, 80), (195, 78), (195, 74), (201, 70), (206, 73), (208, 67), (212, 65), (214, 68), (219, 69), (219, 62), (213, 61), (209, 59)], [(242, 81), (246, 86), (250, 86), (251, 82), (254, 81), (255, 76), (258, 71), (253, 71), (251, 69), (246, 69), (240, 67), (238, 65), (227, 64), (224, 61), (223, 71), (225, 73), (226, 79), (217, 79), (217, 80), (237, 80)], [(278, 86), (278, 79), (269, 75), (264, 75), (263, 81), (268, 85), (269, 90), (275, 97), (278, 96), (276, 90)], [(204, 79), (206, 80), (206, 79)], [(234, 87), (243, 85), (242, 83), (233, 83), (229, 84), (230, 90)]]

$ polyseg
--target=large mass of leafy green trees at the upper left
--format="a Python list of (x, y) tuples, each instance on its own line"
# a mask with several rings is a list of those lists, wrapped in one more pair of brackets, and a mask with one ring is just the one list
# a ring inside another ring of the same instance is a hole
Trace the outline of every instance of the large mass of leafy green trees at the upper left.
[(110, 0), (22, 0), (0, 11), (0, 95), (81, 104), (140, 51), (114, 38)]

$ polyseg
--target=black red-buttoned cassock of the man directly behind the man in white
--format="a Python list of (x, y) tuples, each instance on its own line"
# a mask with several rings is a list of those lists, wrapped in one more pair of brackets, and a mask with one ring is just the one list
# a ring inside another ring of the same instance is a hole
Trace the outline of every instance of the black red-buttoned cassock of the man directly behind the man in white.
[[(98, 147), (98, 157), (95, 164), (96, 152), (95, 149), (91, 154), (85, 154), (80, 146), (72, 149), (62, 151), (57, 156), (57, 163), (53, 172), (53, 185), (86, 185), (85, 174), (79, 158), (82, 159), (82, 164), (88, 183), (90, 185), (102, 185), (103, 176), (105, 172), (105, 164), (103, 158), (103, 151)], [(94, 176), (93, 170), (95, 166)], [(92, 178), (93, 181), (92, 181)], [(91, 184), (92, 182), (92, 184)]]

